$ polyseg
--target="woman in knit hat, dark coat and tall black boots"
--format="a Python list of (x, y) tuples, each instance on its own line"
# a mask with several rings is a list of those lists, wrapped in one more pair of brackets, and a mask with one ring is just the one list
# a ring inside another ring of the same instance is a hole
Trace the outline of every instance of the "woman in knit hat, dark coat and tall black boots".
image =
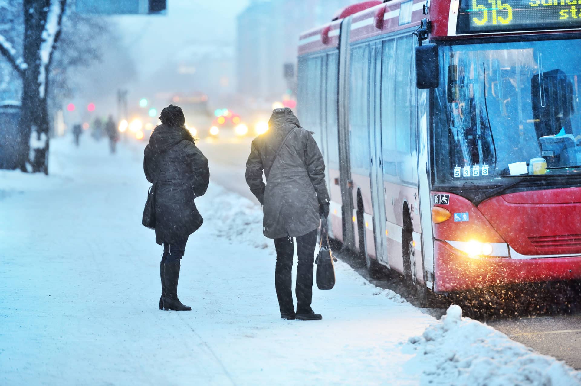
[(210, 171), (207, 158), (185, 128), (182, 109), (170, 104), (159, 119), (162, 125), (153, 130), (144, 151), (145, 177), (155, 189), (155, 238), (163, 245), (159, 309), (190, 311), (177, 296), (180, 260), (188, 236), (203, 223), (193, 201), (206, 193)]

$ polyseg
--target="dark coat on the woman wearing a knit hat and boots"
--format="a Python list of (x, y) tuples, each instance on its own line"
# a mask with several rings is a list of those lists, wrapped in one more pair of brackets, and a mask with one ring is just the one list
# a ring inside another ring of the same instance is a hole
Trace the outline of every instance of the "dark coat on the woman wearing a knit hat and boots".
[(175, 243), (191, 235), (203, 219), (193, 200), (206, 193), (208, 160), (187, 129), (160, 125), (145, 147), (144, 171), (155, 190), (155, 238)]

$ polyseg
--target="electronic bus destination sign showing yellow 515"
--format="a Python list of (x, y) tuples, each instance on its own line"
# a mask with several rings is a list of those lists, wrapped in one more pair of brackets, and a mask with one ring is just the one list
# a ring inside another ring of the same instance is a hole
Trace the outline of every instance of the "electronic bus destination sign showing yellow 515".
[(461, 0), (457, 34), (581, 28), (581, 0)]

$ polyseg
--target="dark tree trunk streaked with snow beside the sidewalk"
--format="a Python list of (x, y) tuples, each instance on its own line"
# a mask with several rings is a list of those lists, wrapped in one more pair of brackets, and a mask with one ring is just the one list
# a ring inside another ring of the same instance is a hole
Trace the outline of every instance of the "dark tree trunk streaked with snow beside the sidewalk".
[(47, 78), (58, 45), (67, 0), (23, 0), (23, 56), (0, 35), (0, 53), (22, 78), (17, 159), (14, 166), (25, 172), (48, 174), (49, 115)]

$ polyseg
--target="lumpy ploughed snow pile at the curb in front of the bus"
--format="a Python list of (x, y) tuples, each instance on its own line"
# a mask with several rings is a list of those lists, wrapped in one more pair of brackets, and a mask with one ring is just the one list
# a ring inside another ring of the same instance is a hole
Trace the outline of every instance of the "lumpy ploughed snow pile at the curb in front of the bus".
[(505, 334), (469, 318), (451, 305), (441, 321), (421, 337), (408, 340), (404, 351), (423, 369), (421, 384), (567, 386), (581, 383), (581, 372), (537, 354)]

